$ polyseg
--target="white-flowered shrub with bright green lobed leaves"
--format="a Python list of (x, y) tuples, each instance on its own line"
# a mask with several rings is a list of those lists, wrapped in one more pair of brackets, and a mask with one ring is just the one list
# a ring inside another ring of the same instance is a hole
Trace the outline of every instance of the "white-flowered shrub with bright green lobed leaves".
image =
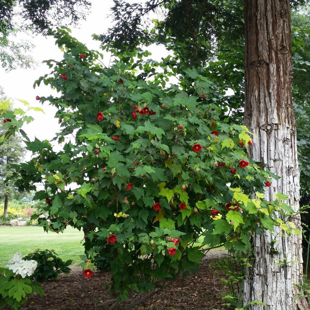
[(29, 279), (37, 267), (36, 261), (24, 260), (21, 253), (16, 253), (6, 267), (0, 268), (0, 308), (10, 306), (16, 310), (35, 291), (43, 296), (41, 285)]

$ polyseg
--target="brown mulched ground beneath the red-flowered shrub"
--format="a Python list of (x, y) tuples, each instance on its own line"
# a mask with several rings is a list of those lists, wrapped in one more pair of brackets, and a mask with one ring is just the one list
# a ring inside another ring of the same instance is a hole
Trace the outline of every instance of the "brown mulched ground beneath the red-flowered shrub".
[[(209, 252), (200, 267), (201, 274), (192, 273), (183, 281), (176, 281), (172, 286), (163, 290), (161, 294), (150, 298), (146, 303), (139, 305), (138, 310), (212, 310), (222, 309), (222, 300), (219, 292), (225, 287), (219, 283), (224, 274), (215, 274), (210, 267), (225, 251)], [(72, 268), (69, 275), (60, 275), (56, 281), (42, 283), (44, 296), (30, 297), (21, 310), (86, 310), (98, 308), (91, 303), (79, 290), (81, 270)], [(86, 290), (95, 297), (106, 300), (108, 297), (103, 289), (107, 282), (108, 272), (95, 272), (85, 281)], [(225, 310), (232, 310), (223, 308)]]

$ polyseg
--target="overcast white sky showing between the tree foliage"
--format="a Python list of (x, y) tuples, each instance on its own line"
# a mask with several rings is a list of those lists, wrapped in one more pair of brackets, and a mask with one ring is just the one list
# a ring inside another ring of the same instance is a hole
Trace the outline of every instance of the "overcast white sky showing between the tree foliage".
[[(77, 38), (80, 42), (85, 43), (90, 49), (99, 49), (99, 42), (92, 40), (91, 35), (93, 33), (101, 34), (111, 26), (110, 7), (113, 6), (112, 0), (91, 0), (92, 7), (90, 14), (86, 17), (86, 20), (81, 21), (76, 27), (69, 26), (72, 30), (72, 36)], [(129, 1), (129, 2), (144, 2), (144, 1)], [(149, 16), (154, 18), (154, 16)], [(48, 59), (62, 59), (62, 52), (57, 46), (55, 46), (54, 38), (44, 38), (41, 35), (35, 37), (31, 35), (21, 34), (18, 38), (29, 39), (34, 44), (32, 51), (33, 59), (36, 61), (30, 69), (15, 69), (11, 72), (5, 72), (0, 68), (0, 85), (4, 88), (4, 92), (7, 97), (12, 98), (12, 101), (17, 99), (24, 99), (32, 106), (38, 106), (43, 108), (45, 114), (40, 112), (32, 112), (30, 115), (34, 117), (34, 121), (29, 125), (23, 127), (24, 131), (28, 134), (31, 140), (36, 136), (38, 139), (48, 139), (54, 137), (55, 132), (58, 130), (58, 119), (54, 118), (56, 108), (49, 106), (47, 103), (42, 106), (39, 101), (35, 100), (37, 95), (48, 96), (52, 94), (52, 90), (49, 86), (45, 86), (41, 83), (40, 87), (33, 89), (33, 82), (40, 76), (49, 73), (49, 68), (46, 64), (42, 64), (43, 60)], [(153, 53), (152, 58), (158, 58), (167, 55), (167, 51), (164, 47), (151, 47), (148, 48)], [(109, 55), (106, 57), (106, 63), (108, 64)], [(23, 105), (18, 103), (15, 106), (23, 108)], [(26, 156), (28, 160), (29, 154)]]

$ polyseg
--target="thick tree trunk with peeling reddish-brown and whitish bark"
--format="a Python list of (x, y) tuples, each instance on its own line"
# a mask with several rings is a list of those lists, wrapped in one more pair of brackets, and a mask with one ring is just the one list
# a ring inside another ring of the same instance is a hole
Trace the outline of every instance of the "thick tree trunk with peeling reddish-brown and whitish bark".
[[(245, 125), (254, 133), (250, 154), (281, 179), (272, 179), (265, 198), (284, 193), (288, 204), (299, 209), (299, 168), (296, 122), (292, 104), (292, 53), (289, 0), (245, 0)], [(293, 219), (301, 229), (300, 216)], [(277, 229), (276, 232), (280, 230)], [(253, 255), (243, 286), (243, 304), (250, 310), (304, 310), (304, 298), (296, 298), (302, 284), (301, 237), (274, 234), (251, 239)], [(280, 260), (279, 260), (280, 259)], [(287, 264), (279, 263), (286, 259)], [(294, 263), (291, 261), (298, 261)]]

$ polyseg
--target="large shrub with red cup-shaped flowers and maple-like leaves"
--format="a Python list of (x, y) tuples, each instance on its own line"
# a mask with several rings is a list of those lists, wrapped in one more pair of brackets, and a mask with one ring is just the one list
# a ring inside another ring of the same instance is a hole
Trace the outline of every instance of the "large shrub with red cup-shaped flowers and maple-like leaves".
[[(265, 183), (277, 176), (248, 159), (250, 132), (229, 124), (206, 96), (206, 78), (185, 68), (182, 83), (191, 91), (166, 87), (167, 77), (147, 65), (154, 81), (140, 78), (133, 60), (105, 68), (100, 53), (65, 29), (54, 35), (64, 59), (46, 61), (52, 72), (35, 86), (43, 81), (59, 93), (40, 101), (57, 108), (61, 130), (54, 140), (63, 149), (54, 151), (46, 140), (26, 142), (33, 157), (15, 167), (22, 176), (16, 185), (36, 191), (43, 182), (34, 199), (46, 199), (50, 221), (39, 223), (46, 231), (82, 229), (82, 267), (94, 271), (90, 262), (98, 258), (109, 266), (111, 300), (98, 302), (101, 308), (117, 309), (133, 291), (155, 294), (198, 271), (207, 249), (245, 251), (251, 231), (263, 234), (281, 224), (296, 232), (276, 220), (276, 212), (292, 212), (281, 202), (286, 196), (263, 199)], [(9, 116), (8, 128), (15, 128)], [(90, 297), (85, 270), (81, 289)]]

